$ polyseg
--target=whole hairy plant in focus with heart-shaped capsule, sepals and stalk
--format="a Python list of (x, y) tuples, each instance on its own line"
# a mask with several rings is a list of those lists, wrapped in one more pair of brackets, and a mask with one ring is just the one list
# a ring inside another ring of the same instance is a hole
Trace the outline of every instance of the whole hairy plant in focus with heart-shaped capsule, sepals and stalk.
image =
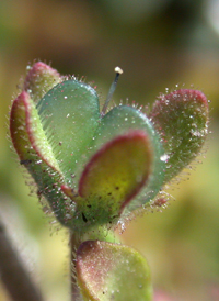
[(164, 183), (200, 152), (208, 134), (201, 91), (160, 94), (146, 115), (37, 62), (13, 101), (10, 134), (20, 163), (59, 223), (69, 228), (72, 300), (149, 301), (147, 260), (114, 231), (138, 210), (165, 202)]

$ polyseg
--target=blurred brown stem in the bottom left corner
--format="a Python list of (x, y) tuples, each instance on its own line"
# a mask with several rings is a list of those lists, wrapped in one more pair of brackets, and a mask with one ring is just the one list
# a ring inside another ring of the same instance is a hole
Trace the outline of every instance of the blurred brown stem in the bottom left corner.
[(0, 278), (14, 301), (43, 301), (42, 293), (13, 249), (0, 221)]

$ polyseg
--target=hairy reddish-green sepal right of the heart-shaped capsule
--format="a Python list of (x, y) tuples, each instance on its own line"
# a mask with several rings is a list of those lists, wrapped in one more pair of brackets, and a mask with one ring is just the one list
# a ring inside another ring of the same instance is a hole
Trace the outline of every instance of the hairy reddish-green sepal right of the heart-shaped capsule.
[(176, 176), (200, 152), (208, 134), (208, 101), (198, 90), (161, 94), (150, 118), (160, 133), (166, 161), (165, 181)]

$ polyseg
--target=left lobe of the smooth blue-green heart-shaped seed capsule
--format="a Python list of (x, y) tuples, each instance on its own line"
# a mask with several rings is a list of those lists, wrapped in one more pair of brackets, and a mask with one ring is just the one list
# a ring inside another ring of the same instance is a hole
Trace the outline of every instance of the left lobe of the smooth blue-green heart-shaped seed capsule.
[(100, 120), (99, 98), (89, 85), (67, 80), (58, 83), (37, 105), (43, 129), (69, 183), (88, 152)]

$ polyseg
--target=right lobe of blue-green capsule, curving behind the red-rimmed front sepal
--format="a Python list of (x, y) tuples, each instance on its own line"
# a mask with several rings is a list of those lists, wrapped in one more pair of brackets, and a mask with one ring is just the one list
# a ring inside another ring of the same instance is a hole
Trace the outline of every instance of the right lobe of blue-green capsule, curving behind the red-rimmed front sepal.
[(92, 142), (92, 152), (95, 152), (104, 142), (112, 140), (116, 135), (123, 135), (130, 130), (142, 130), (145, 132), (153, 157), (149, 180), (139, 197), (129, 203), (126, 209), (128, 211), (151, 201), (162, 187), (165, 163), (162, 160), (164, 152), (159, 134), (143, 113), (131, 107), (119, 105), (102, 118)]

